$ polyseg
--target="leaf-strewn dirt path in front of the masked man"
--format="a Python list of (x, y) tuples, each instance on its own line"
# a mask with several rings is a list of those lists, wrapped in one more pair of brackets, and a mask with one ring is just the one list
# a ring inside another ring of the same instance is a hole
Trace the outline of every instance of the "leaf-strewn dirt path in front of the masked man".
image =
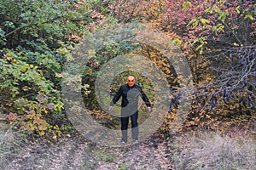
[(137, 170), (170, 169), (164, 139), (155, 137), (141, 144), (107, 148), (73, 136), (56, 144), (41, 141), (26, 144), (8, 170)]

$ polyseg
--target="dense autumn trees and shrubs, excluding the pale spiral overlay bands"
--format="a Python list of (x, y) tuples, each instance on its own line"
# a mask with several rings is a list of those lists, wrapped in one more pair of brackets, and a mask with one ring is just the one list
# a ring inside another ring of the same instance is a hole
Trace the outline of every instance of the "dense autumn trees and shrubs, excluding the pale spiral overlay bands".
[[(0, 3), (1, 121), (26, 133), (52, 139), (70, 128), (61, 99), (62, 69), (85, 37), (106, 27), (143, 23), (166, 33), (183, 50), (193, 73), (193, 103), (184, 127), (214, 129), (221, 122), (255, 118), (256, 5), (253, 1), (184, 0), (3, 0)], [(119, 54), (142, 54), (168, 78), (170, 113), (161, 130), (169, 130), (183, 93), (165, 56), (147, 44), (106, 40), (84, 65), (84, 105), (98, 119), (94, 94), (97, 72)], [(147, 77), (136, 73), (138, 82)], [(127, 73), (119, 75), (123, 80)], [(118, 81), (117, 81), (118, 82)], [(120, 82), (122, 83), (122, 82)], [(113, 84), (113, 91), (119, 84)], [(116, 122), (107, 121), (111, 126)], [(68, 126), (67, 126), (68, 125)]]

